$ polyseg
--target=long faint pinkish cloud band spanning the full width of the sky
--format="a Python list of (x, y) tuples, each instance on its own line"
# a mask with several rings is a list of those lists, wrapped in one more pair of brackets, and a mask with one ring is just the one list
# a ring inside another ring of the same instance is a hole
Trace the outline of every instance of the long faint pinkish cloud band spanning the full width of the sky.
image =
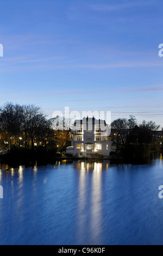
[[(66, 60), (67, 59), (67, 60)], [(60, 62), (58, 62), (60, 60)], [(25, 58), (14, 57), (1, 60), (0, 73), (2, 72), (29, 72), (40, 70), (59, 70), (59, 69), (117, 69), (117, 68), (146, 68), (146, 67), (161, 67), (163, 62), (119, 62), (108, 64), (71, 64), (77, 60), (69, 60), (65, 56), (54, 56), (47, 58)], [(36, 65), (35, 65), (36, 63)], [(46, 64), (45, 64), (46, 63)]]

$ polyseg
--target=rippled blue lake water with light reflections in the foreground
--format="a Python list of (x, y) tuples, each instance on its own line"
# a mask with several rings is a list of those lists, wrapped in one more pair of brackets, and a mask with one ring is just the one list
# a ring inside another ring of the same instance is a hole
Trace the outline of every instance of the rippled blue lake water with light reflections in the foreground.
[(0, 245), (162, 245), (162, 157), (150, 165), (0, 164)]

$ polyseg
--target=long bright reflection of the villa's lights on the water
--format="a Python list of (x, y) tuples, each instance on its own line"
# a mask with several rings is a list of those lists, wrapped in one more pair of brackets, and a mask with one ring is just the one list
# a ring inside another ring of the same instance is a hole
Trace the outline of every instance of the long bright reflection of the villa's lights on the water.
[[(93, 242), (99, 241), (102, 233), (102, 170), (109, 169), (109, 162), (78, 161), (76, 169), (79, 173), (78, 197), (78, 236), (82, 243), (87, 228), (90, 228)], [(91, 181), (89, 171), (92, 171)], [(89, 190), (87, 189), (89, 185)], [(89, 223), (86, 223), (87, 214), (90, 212)]]

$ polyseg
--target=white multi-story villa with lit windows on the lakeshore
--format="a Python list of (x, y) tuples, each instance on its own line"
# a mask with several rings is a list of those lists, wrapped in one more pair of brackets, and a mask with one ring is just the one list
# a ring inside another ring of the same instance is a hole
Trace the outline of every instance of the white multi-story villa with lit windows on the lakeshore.
[(104, 120), (83, 118), (74, 122), (71, 133), (72, 146), (66, 149), (67, 154), (77, 157), (92, 157), (102, 154), (109, 157), (112, 148), (109, 127)]

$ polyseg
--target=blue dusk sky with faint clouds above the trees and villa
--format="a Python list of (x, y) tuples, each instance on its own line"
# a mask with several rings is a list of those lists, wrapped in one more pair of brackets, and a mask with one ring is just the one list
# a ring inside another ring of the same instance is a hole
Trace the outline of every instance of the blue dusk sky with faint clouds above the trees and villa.
[(161, 0), (1, 0), (1, 104), (111, 111), (163, 127)]

